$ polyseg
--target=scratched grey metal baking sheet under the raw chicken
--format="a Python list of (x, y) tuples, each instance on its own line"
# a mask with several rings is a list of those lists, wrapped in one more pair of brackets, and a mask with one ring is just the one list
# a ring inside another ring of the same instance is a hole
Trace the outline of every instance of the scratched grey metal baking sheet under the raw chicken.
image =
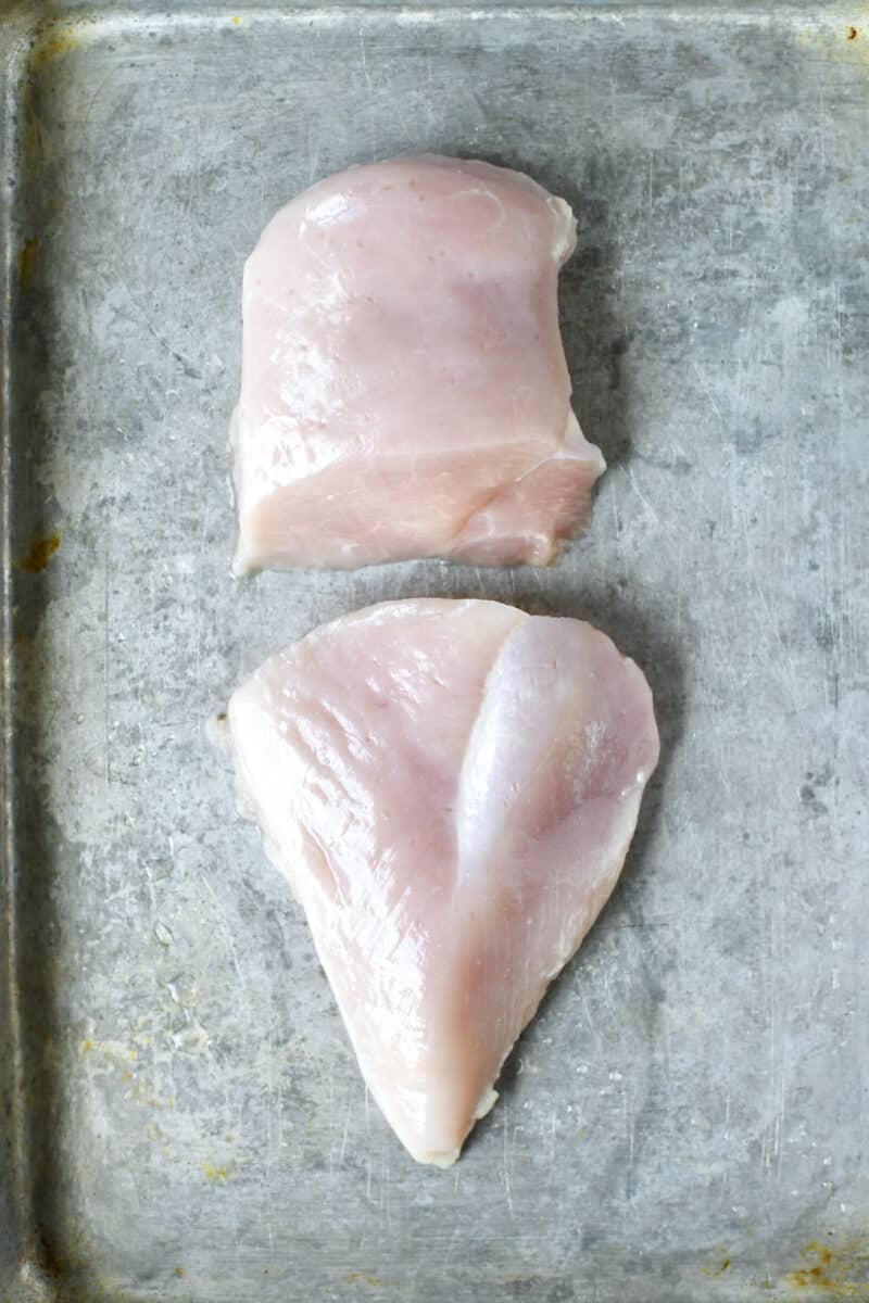
[[(0, 1296), (869, 1298), (865, 7), (18, 7), (3, 51)], [(233, 581), (242, 261), (422, 149), (578, 212), (591, 530), (546, 572)], [(663, 737), (448, 1173), (203, 736), (270, 650), (425, 593), (591, 618)]]

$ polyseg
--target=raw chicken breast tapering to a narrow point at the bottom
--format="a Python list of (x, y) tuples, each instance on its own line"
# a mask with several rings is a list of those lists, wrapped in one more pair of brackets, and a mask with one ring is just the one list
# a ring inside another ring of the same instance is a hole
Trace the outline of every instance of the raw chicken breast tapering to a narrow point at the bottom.
[(374, 1098), (449, 1165), (619, 877), (658, 760), (642, 674), (578, 620), (387, 602), (267, 661), (228, 728)]

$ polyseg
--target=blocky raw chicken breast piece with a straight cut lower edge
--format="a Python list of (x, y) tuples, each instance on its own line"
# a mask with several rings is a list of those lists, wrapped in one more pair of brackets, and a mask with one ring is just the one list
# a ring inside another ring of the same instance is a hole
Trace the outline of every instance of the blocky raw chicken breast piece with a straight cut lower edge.
[(270, 222), (244, 278), (236, 573), (550, 562), (605, 469), (571, 410), (564, 199), (489, 163), (352, 168)]

